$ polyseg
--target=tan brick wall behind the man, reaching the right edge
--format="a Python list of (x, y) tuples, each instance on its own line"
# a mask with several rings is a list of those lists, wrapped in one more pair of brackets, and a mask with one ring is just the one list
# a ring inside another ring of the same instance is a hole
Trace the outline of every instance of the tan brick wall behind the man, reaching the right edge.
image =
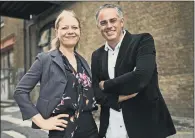
[[(81, 20), (79, 52), (90, 64), (91, 53), (104, 40), (95, 23), (106, 2), (77, 2), (69, 9)], [(157, 50), (161, 92), (172, 115), (193, 117), (194, 2), (112, 2), (119, 4), (131, 33), (149, 32)]]

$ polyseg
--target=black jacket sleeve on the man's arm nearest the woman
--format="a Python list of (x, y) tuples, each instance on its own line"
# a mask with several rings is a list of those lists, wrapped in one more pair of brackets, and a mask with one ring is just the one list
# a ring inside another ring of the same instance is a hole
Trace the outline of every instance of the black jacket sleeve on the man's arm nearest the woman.
[(94, 91), (94, 95), (96, 98), (96, 101), (98, 104), (102, 106), (108, 106), (113, 109), (118, 110), (118, 95), (111, 94), (108, 96), (108, 94), (104, 93), (99, 88), (99, 82), (100, 82), (100, 69), (98, 64), (98, 56), (97, 53), (92, 54), (92, 60), (91, 60), (91, 71), (92, 71), (92, 87)]

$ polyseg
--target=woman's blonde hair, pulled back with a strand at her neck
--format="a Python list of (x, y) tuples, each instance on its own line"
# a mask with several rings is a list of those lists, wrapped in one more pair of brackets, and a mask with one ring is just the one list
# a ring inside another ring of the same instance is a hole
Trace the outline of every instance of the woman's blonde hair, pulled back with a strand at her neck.
[[(73, 12), (73, 11), (68, 11), (68, 10), (63, 10), (57, 17), (56, 21), (55, 21), (55, 30), (57, 30), (59, 28), (59, 22), (65, 18), (67, 15), (69, 16), (72, 16), (74, 17), (78, 23), (79, 23), (79, 28), (81, 28), (81, 25), (80, 25), (80, 21), (78, 19), (78, 17), (76, 16), (76, 14)], [(51, 50), (54, 50), (54, 49), (58, 49), (60, 47), (60, 41), (57, 37), (55, 37), (52, 41), (51, 41)]]

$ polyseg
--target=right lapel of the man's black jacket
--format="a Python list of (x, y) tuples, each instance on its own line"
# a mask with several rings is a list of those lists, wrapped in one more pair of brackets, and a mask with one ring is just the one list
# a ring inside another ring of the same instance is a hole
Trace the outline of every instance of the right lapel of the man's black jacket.
[(125, 52), (127, 51), (127, 48), (129, 47), (128, 45), (130, 44), (131, 42), (131, 34), (126, 30), (126, 34), (123, 38), (123, 41), (121, 43), (121, 47), (120, 47), (120, 50), (119, 50), (119, 53), (118, 53), (118, 57), (116, 59), (116, 65), (115, 65), (115, 75), (116, 75), (116, 70), (119, 68), (120, 66), (120, 63), (122, 62), (122, 60), (125, 57)]

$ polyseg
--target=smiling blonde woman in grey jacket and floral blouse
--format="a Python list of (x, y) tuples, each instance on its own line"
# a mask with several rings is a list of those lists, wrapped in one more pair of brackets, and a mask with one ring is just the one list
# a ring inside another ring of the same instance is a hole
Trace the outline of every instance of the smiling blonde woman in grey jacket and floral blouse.
[[(73, 12), (64, 10), (55, 21), (55, 30), (55, 48), (38, 54), (18, 83), (14, 98), (23, 120), (32, 118), (32, 127), (49, 130), (49, 138), (97, 138), (90, 68), (75, 51), (80, 22)], [(29, 94), (38, 81), (40, 94), (34, 106)]]

